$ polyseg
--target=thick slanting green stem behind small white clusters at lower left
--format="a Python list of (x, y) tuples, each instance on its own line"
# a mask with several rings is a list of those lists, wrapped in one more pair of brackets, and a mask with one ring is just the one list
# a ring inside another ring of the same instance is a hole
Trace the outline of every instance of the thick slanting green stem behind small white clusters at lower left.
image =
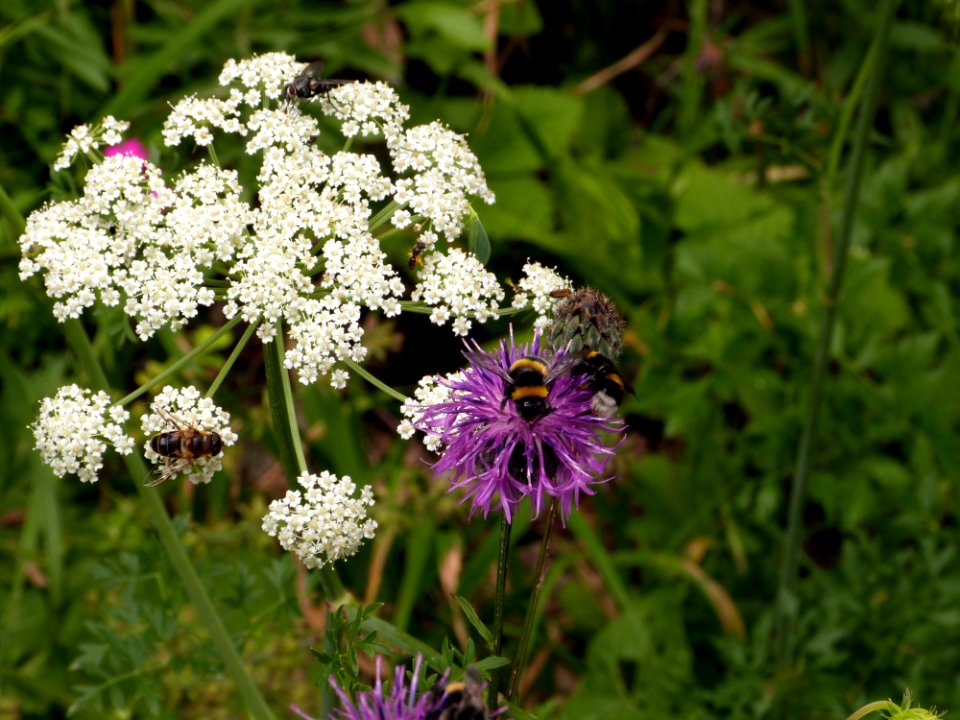
[[(94, 388), (110, 392), (110, 385), (107, 383), (107, 377), (100, 366), (90, 344), (90, 338), (87, 337), (79, 320), (71, 319), (64, 323), (64, 332), (67, 341), (73, 347), (80, 362), (80, 366), (87, 374)], [(163, 545), (170, 563), (173, 565), (181, 582), (187, 590), (190, 601), (197, 611), (197, 616), (202, 627), (210, 634), (210, 640), (216, 648), (223, 662), (227, 674), (233, 680), (240, 697), (243, 699), (244, 706), (250, 715), (260, 720), (272, 720), (273, 713), (267, 707), (266, 701), (254, 685), (252, 678), (243, 664), (243, 659), (237, 648), (234, 646), (226, 627), (217, 614), (206, 588), (200, 581), (187, 552), (180, 542), (173, 523), (170, 521), (167, 510), (160, 501), (160, 496), (150, 488), (143, 486), (139, 478), (144, 478), (149, 474), (146, 463), (140, 453), (133, 452), (124, 457), (124, 463), (127, 466), (127, 472), (137, 480), (135, 483), (137, 492), (140, 494), (140, 500), (146, 509), (154, 528), (160, 537), (160, 543)]]

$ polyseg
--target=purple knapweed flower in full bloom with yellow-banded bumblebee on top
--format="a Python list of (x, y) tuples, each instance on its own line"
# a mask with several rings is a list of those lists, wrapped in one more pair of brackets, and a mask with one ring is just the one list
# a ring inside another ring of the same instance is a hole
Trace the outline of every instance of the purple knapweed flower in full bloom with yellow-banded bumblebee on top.
[[(536, 517), (549, 497), (559, 501), (566, 522), (581, 493), (592, 495), (595, 485), (610, 479), (607, 465), (622, 437), (611, 444), (601, 433), (620, 436), (623, 423), (594, 414), (593, 393), (582, 375), (570, 372), (579, 356), (561, 349), (549, 357), (539, 335), (517, 345), (511, 332), (493, 352), (476, 342), (467, 348), (468, 367), (438, 381), (449, 389), (448, 399), (423, 407), (415, 423), (443, 446), (434, 471), (453, 473), (450, 489), (467, 491), (471, 513), (479, 510), (486, 517), (499, 505), (511, 522), (529, 497)], [(547, 409), (532, 420), (518, 412), (507, 393), (510, 367), (524, 357), (540, 358), (549, 368)]]

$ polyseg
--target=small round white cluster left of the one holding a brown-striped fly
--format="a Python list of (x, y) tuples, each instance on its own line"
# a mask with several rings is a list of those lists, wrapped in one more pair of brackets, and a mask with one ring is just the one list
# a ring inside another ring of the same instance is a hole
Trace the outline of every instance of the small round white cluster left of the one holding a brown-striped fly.
[(133, 450), (133, 438), (123, 431), (129, 417), (105, 392), (65, 385), (40, 403), (32, 426), (36, 447), (58, 477), (76, 473), (83, 482), (96, 482), (108, 445), (121, 455)]

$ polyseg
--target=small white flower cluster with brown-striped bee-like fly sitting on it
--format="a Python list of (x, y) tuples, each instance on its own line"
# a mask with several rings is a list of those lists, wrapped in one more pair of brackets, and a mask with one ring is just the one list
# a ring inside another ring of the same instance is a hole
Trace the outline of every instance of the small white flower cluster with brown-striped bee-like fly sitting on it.
[(158, 465), (163, 479), (184, 473), (194, 484), (208, 483), (213, 474), (223, 467), (223, 452), (202, 455), (193, 459), (167, 458), (150, 447), (150, 440), (160, 433), (216, 433), (223, 447), (237, 442), (237, 434), (230, 429), (230, 414), (217, 407), (210, 398), (200, 397), (195, 387), (175, 388), (167, 385), (150, 403), (151, 412), (140, 418), (147, 442), (144, 454)]

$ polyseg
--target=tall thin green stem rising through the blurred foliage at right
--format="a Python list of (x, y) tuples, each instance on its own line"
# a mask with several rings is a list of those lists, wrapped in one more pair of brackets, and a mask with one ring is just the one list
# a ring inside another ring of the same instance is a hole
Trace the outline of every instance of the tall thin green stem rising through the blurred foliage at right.
[(806, 496), (807, 478), (810, 475), (810, 457), (813, 450), (813, 440), (817, 432), (820, 402), (823, 396), (823, 383), (826, 376), (827, 361), (830, 356), (830, 343), (833, 338), (833, 326), (836, 320), (840, 291), (843, 287), (843, 276), (850, 247), (851, 229), (853, 227), (853, 218), (857, 209), (857, 200), (860, 193), (864, 153), (866, 151), (870, 128), (877, 105), (880, 82), (883, 77), (883, 63), (886, 58), (887, 40), (890, 34), (890, 25), (893, 22), (895, 6), (896, 0), (885, 0), (880, 10), (880, 27), (876, 36), (876, 50), (867, 56), (867, 61), (871, 62), (873, 67), (871, 68), (863, 104), (860, 107), (860, 115), (857, 118), (856, 134), (854, 136), (853, 151), (850, 158), (850, 172), (844, 192), (843, 207), (841, 208), (837, 243), (834, 248), (833, 267), (826, 288), (826, 296), (823, 301), (823, 316), (820, 321), (820, 335), (814, 357), (810, 400), (807, 407), (803, 433), (800, 438), (799, 447), (797, 448), (797, 464), (790, 492), (787, 538), (783, 553), (783, 562), (780, 567), (776, 622), (774, 626), (777, 638), (777, 659), (780, 667), (789, 665), (794, 650), (797, 616), (797, 565), (801, 531), (800, 516)]

